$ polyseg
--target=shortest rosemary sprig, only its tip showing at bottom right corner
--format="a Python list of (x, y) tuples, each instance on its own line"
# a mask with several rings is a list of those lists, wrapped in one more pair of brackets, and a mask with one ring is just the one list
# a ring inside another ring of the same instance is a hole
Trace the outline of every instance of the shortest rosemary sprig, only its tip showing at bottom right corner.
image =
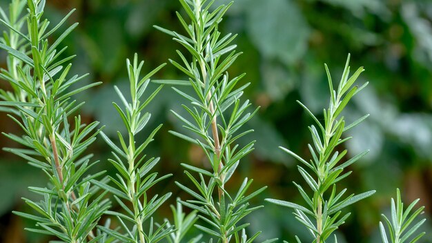
[[(400, 191), (397, 189), (396, 191), (396, 202), (391, 199), (391, 218), (389, 219), (386, 215), (382, 215), (384, 217), (384, 222), (386, 222), (387, 228), (389, 229), (389, 237), (387, 237), (386, 230), (384, 229), (384, 225), (380, 222), (380, 231), (383, 243), (404, 243), (410, 242), (414, 243), (420, 240), (425, 232), (422, 232), (418, 235), (413, 235), (415, 231), (417, 231), (422, 224), (426, 221), (426, 219), (420, 220), (415, 225), (410, 226), (411, 223), (414, 222), (416, 217), (423, 213), (424, 206), (421, 206), (416, 211), (411, 213), (411, 210), (415, 207), (415, 204), (418, 203), (420, 199), (415, 200), (411, 204), (409, 204), (408, 208), (404, 211), (404, 204), (402, 203), (402, 199), (400, 196)], [(411, 213), (411, 215), (410, 215)]]

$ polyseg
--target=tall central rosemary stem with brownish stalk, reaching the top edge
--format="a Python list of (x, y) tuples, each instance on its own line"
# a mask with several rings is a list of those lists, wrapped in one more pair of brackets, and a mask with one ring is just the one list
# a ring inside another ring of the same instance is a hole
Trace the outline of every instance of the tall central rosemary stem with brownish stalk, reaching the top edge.
[[(230, 79), (226, 70), (235, 62), (241, 53), (236, 53), (236, 46), (231, 44), (235, 35), (221, 36), (218, 24), (228, 6), (219, 6), (213, 12), (214, 1), (207, 0), (179, 0), (191, 23), (186, 23), (181, 14), (177, 17), (184, 27), (186, 35), (157, 27), (162, 32), (173, 36), (174, 40), (188, 51), (184, 55), (177, 50), (182, 64), (170, 60), (176, 68), (188, 76), (188, 81), (168, 81), (169, 84), (188, 85), (193, 88), (195, 95), (188, 95), (177, 88), (174, 90), (182, 97), (188, 99), (190, 104), (183, 105), (190, 117), (184, 117), (173, 110), (173, 114), (191, 134), (171, 131), (182, 139), (196, 144), (206, 154), (210, 170), (197, 168), (189, 164), (181, 164), (186, 168), (186, 175), (196, 186), (195, 190), (176, 182), (176, 184), (194, 197), (194, 200), (180, 201), (181, 204), (199, 212), (207, 225), (195, 226), (217, 242), (253, 242), (259, 235), (256, 233), (249, 239), (244, 229), (248, 223), (241, 220), (249, 213), (261, 208), (249, 208), (248, 201), (264, 191), (266, 187), (246, 195), (246, 191), (253, 182), (244, 179), (237, 194), (230, 195), (225, 184), (235, 173), (239, 160), (251, 153), (254, 141), (239, 146), (237, 139), (252, 130), (241, 131), (240, 128), (256, 113), (248, 112), (251, 103), (240, 101), (244, 88), (236, 88), (244, 77)], [(187, 56), (192, 57), (188, 61)], [(165, 81), (166, 82), (166, 81)], [(196, 175), (193, 175), (196, 173)]]

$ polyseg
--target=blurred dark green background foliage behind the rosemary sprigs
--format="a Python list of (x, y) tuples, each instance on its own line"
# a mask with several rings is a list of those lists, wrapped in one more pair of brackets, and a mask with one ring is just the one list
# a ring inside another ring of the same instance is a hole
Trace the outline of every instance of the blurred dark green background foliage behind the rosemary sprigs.
[[(7, 4), (8, 0), (0, 1), (2, 8)], [(180, 30), (175, 17), (180, 6), (174, 0), (51, 0), (46, 14), (52, 23), (57, 23), (72, 8), (77, 8), (72, 20), (80, 25), (67, 39), (69, 53), (65, 55), (77, 53), (74, 73), (89, 72), (88, 82), (104, 81), (103, 86), (77, 99), (86, 101), (82, 111), (85, 119), (99, 120), (107, 126), (105, 133), (113, 135), (121, 121), (111, 105), (117, 99), (112, 86), (127, 88), (125, 59), (138, 52), (146, 60), (145, 68), (151, 70), (168, 58), (176, 58), (175, 50), (180, 46), (152, 26)], [(320, 114), (328, 104), (323, 64), (330, 66), (333, 80), (337, 81), (348, 52), (351, 67), (364, 66), (366, 72), (361, 79), (370, 85), (355, 97), (346, 117), (354, 120), (364, 113), (371, 117), (351, 130), (353, 139), (346, 146), (350, 156), (366, 149), (371, 152), (353, 166), (353, 175), (342, 186), (348, 188), (348, 193), (372, 189), (377, 193), (351, 206), (353, 214), (338, 233), (340, 242), (380, 242), (377, 223), (381, 212), (388, 213), (389, 199), (394, 197), (396, 187), (402, 188), (406, 202), (421, 197), (426, 206), (424, 217), (431, 216), (431, 20), (432, 2), (427, 0), (235, 1), (221, 30), (239, 34), (236, 42), (244, 55), (230, 72), (247, 73), (251, 86), (245, 96), (261, 108), (248, 125), (255, 133), (242, 140), (256, 139), (255, 153), (241, 163), (231, 186), (237, 187), (243, 177), (255, 179), (257, 188), (269, 186), (255, 200), (266, 207), (248, 218), (251, 231), (263, 231), (261, 239), (293, 240), (297, 234), (305, 242), (310, 241), (291, 211), (264, 203), (263, 199), (300, 200), (291, 183), (302, 182), (296, 162), (277, 147), (285, 146), (308, 156), (306, 146), (311, 139), (306, 125), (313, 121), (295, 100)], [(6, 53), (1, 52), (1, 66), (5, 66), (5, 57)], [(173, 66), (167, 66), (158, 78), (183, 77)], [(0, 86), (7, 88), (4, 81)], [(148, 154), (161, 156), (157, 168), (161, 174), (175, 173), (154, 193), (173, 191), (171, 204), (175, 197), (188, 198), (173, 183), (188, 182), (179, 163), (204, 162), (199, 148), (168, 134), (168, 130), (181, 129), (168, 111), (181, 111), (179, 106), (184, 102), (166, 86), (150, 107), (153, 126), (164, 123), (164, 128)], [(1, 115), (0, 130), (17, 133), (19, 129)], [(3, 137), (0, 146), (16, 144)], [(106, 162), (110, 153), (102, 139), (92, 151), (101, 159), (97, 170), (113, 171)], [(35, 195), (30, 195), (26, 187), (43, 185), (46, 177), (17, 157), (1, 152), (0, 158), (0, 242), (47, 242), (46, 238), (24, 233), (23, 227), (30, 222), (10, 213), (27, 211), (20, 198)], [(168, 205), (158, 217), (170, 217)], [(424, 242), (432, 242), (428, 222), (424, 230), (429, 234)]]

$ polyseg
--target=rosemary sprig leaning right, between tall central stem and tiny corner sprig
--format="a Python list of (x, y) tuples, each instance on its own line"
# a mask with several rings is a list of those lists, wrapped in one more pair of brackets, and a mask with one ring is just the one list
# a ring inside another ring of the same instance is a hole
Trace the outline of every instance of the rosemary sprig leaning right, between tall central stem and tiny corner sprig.
[[(306, 226), (313, 236), (314, 242), (317, 243), (324, 243), (326, 239), (331, 236), (333, 231), (335, 231), (341, 224), (344, 224), (344, 221), (350, 213), (346, 213), (340, 217), (343, 208), (346, 208), (346, 206), (375, 193), (375, 191), (368, 191), (359, 195), (352, 194), (348, 197), (343, 197), (346, 189), (339, 193), (337, 193), (336, 189), (337, 182), (340, 182), (340, 180), (351, 174), (351, 171), (342, 173), (344, 169), (367, 153), (367, 151), (360, 153), (359, 155), (356, 155), (355, 157), (348, 159), (348, 161), (340, 164), (342, 159), (346, 156), (347, 150), (343, 150), (339, 153), (337, 151), (337, 146), (346, 142), (348, 139), (351, 139), (351, 137), (342, 138), (342, 134), (344, 131), (353, 128), (353, 126), (359, 124), (368, 117), (368, 115), (365, 115), (356, 122), (353, 122), (353, 124), (345, 126), (345, 119), (341, 116), (342, 110), (345, 108), (346, 104), (348, 104), (348, 101), (367, 85), (366, 83), (360, 88), (354, 86), (357, 77), (359, 77), (360, 73), (363, 72), (364, 69), (362, 67), (358, 68), (354, 75), (348, 77), (350, 69), (348, 63), (349, 55), (337, 90), (333, 89), (330, 72), (328, 71), (327, 66), (325, 66), (331, 98), (328, 109), (324, 109), (324, 124), (321, 124), (317, 117), (315, 117), (315, 115), (313, 115), (313, 113), (311, 113), (311, 111), (299, 101), (300, 106), (306, 110), (308, 115), (311, 115), (318, 126), (318, 128), (314, 125), (309, 126), (313, 140), (313, 146), (308, 144), (308, 148), (312, 155), (310, 162), (307, 162), (306, 159), (296, 155), (291, 150), (281, 147), (286, 151), (286, 153), (292, 155), (306, 166), (298, 166), (298, 170), (300, 175), (302, 175), (306, 181), (306, 184), (308, 184), (313, 191), (313, 194), (308, 195), (300, 184), (293, 182), (306, 202), (306, 206), (281, 200), (266, 200), (274, 204), (295, 209), (295, 218)], [(305, 168), (308, 168), (311, 172), (306, 171)], [(313, 173), (313, 175), (311, 175), (311, 173)], [(327, 193), (328, 189), (331, 189), (330, 193)], [(297, 242), (300, 242), (298, 238)]]

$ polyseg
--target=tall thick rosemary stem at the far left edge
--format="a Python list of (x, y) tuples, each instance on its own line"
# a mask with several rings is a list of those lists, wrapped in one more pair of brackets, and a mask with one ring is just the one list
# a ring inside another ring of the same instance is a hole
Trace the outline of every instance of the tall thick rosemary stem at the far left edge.
[[(73, 10), (50, 29), (50, 22), (43, 19), (44, 6), (45, 0), (12, 0), (9, 15), (0, 10), (0, 23), (9, 28), (0, 43), (0, 48), (8, 51), (8, 67), (1, 70), (0, 77), (13, 88), (0, 91), (1, 105), (9, 107), (4, 110), (23, 130), (22, 136), (3, 135), (25, 147), (5, 150), (40, 168), (49, 179), (45, 188), (29, 187), (41, 195), (40, 202), (23, 199), (34, 214), (14, 213), (36, 222), (28, 231), (54, 235), (64, 242), (97, 242), (101, 236), (95, 237), (92, 229), (109, 202), (104, 200), (104, 193), (94, 197), (99, 188), (90, 180), (104, 171), (85, 177), (95, 162), (90, 162), (92, 155), (83, 153), (95, 141), (99, 123), (81, 124), (79, 116), (74, 124), (69, 120), (82, 105), (70, 97), (99, 83), (68, 89), (86, 75), (68, 77), (68, 62), (75, 56), (61, 59), (66, 48), (57, 48), (77, 23), (50, 43), (48, 39)], [(24, 14), (26, 7), (28, 13)]]

